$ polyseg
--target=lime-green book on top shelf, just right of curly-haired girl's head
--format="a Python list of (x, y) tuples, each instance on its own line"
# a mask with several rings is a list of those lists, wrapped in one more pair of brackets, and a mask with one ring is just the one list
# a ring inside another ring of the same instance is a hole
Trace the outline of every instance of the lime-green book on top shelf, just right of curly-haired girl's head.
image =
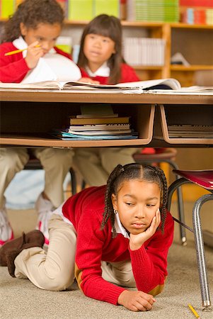
[(69, 0), (68, 19), (90, 21), (93, 18), (93, 0)]

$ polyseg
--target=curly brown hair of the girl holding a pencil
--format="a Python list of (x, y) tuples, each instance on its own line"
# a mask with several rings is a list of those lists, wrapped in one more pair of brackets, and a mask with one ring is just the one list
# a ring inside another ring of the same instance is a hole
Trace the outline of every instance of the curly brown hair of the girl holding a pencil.
[(25, 0), (4, 25), (1, 43), (12, 42), (21, 35), (20, 23), (37, 28), (39, 23), (63, 24), (64, 11), (56, 0)]

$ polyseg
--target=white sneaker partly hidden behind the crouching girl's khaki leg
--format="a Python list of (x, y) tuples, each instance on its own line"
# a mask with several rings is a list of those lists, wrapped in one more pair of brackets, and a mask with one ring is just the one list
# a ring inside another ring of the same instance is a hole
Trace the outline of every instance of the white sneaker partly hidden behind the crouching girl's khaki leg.
[(43, 198), (42, 194), (38, 196), (38, 199), (35, 203), (35, 209), (38, 211), (38, 226), (37, 229), (40, 230), (45, 236), (45, 245), (49, 245), (49, 232), (48, 232), (48, 223), (52, 212), (54, 211), (54, 206), (51, 201)]

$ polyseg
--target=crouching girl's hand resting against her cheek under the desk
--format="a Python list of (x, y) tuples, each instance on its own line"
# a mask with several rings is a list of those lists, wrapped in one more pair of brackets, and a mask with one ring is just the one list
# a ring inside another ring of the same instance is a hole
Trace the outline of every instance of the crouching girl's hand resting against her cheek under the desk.
[(156, 229), (161, 223), (161, 213), (159, 208), (157, 209), (154, 218), (151, 220), (151, 225), (143, 232), (137, 235), (130, 234), (129, 247), (130, 250), (139, 250), (140, 247), (148, 240), (151, 236), (154, 235)]

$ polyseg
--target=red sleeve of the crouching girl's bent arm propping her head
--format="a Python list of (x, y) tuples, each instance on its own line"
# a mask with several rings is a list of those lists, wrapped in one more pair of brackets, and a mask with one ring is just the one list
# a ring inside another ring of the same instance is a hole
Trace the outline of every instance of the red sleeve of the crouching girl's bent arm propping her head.
[(158, 294), (163, 290), (167, 276), (168, 248), (173, 241), (173, 218), (168, 213), (164, 233), (156, 233), (138, 250), (131, 250), (132, 271), (137, 289), (146, 293)]

